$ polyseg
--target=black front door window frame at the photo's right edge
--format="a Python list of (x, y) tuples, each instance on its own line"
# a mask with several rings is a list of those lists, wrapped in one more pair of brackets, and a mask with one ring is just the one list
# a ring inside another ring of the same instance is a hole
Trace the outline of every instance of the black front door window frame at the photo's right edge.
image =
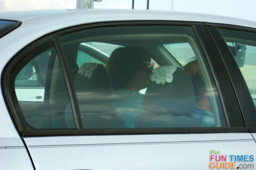
[(244, 80), (243, 74), (240, 71), (226, 41), (222, 38), (220, 29), (230, 29), (237, 31), (247, 31), (253, 32), (256, 35), (256, 29), (241, 27), (237, 25), (229, 24), (213, 24), (206, 23), (206, 27), (209, 30), (211, 36), (213, 37), (214, 43), (219, 50), (222, 61), (225, 64), (226, 70), (229, 74), (230, 81), (233, 84), (235, 94), (237, 96), (238, 104), (241, 109), (241, 113), (244, 118), (246, 128), (254, 129), (256, 132), (256, 111), (252, 101), (252, 97)]

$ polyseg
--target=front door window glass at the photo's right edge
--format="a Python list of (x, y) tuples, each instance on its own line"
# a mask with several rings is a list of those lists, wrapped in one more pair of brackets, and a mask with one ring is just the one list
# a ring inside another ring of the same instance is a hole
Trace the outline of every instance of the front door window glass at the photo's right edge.
[(256, 106), (256, 33), (219, 29), (233, 54)]

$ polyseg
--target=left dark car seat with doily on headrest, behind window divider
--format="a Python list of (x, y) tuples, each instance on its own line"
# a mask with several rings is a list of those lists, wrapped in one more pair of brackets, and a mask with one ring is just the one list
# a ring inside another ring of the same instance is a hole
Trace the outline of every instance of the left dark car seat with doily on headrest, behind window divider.
[[(105, 66), (84, 63), (74, 87), (84, 129), (125, 128), (122, 117), (111, 107), (111, 79)], [(68, 128), (75, 128), (70, 105), (66, 108), (66, 122)]]

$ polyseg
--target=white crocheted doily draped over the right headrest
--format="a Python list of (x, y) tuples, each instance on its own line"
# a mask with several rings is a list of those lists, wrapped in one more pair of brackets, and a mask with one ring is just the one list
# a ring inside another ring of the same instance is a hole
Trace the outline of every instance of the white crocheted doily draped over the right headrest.
[(157, 84), (165, 84), (165, 82), (171, 83), (173, 80), (172, 74), (176, 69), (177, 66), (173, 65), (159, 66), (154, 69), (151, 81), (155, 81)]

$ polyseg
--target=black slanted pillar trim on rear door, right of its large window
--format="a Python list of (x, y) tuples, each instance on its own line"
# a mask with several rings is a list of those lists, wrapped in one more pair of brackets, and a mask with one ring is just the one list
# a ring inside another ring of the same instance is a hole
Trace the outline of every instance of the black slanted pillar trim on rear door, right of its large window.
[(228, 77), (226, 67), (223, 65), (220, 54), (215, 47), (214, 41), (209, 32), (202, 25), (195, 28), (195, 33), (204, 50), (207, 61), (217, 86), (223, 112), (226, 116), (227, 126), (239, 127), (244, 126), (241, 110), (237, 104), (236, 95)]

